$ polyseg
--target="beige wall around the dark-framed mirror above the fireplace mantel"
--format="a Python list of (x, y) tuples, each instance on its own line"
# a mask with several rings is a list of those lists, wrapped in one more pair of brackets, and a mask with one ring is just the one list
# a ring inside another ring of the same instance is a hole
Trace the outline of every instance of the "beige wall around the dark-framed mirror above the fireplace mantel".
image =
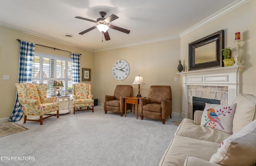
[(235, 33), (241, 32), (240, 55), (242, 65), (246, 69), (242, 73), (242, 93), (256, 95), (256, 1), (251, 0), (246, 4), (220, 16), (216, 20), (204, 25), (201, 28), (181, 38), (181, 59), (188, 65), (188, 43), (198, 40), (204, 36), (224, 30), (224, 45), (231, 47), (232, 57), (236, 55), (234, 40)]

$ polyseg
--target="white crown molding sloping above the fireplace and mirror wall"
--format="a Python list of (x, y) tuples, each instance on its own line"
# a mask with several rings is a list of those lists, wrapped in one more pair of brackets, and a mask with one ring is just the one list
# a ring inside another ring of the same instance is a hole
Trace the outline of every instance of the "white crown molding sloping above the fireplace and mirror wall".
[(190, 32), (193, 32), (194, 30), (204, 26), (205, 24), (208, 24), (209, 22), (219, 18), (220, 16), (234, 10), (235, 8), (238, 8), (239, 6), (249, 2), (250, 0), (236, 0), (235, 2), (233, 2), (232, 4), (226, 6), (225, 8), (223, 8), (222, 10), (219, 10), (218, 12), (212, 14), (211, 16), (209, 16), (208, 18), (202, 20), (201, 22), (199, 22), (198, 24), (188, 28), (187, 30), (185, 30), (184, 32), (180, 33), (180, 37), (185, 36), (186, 34), (189, 34)]

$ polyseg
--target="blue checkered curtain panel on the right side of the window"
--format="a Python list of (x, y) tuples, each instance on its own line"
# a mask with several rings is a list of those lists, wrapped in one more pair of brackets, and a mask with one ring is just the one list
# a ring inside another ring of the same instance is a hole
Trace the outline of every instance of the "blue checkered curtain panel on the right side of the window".
[(80, 54), (71, 52), (72, 62), (72, 83), (76, 84), (80, 82)]

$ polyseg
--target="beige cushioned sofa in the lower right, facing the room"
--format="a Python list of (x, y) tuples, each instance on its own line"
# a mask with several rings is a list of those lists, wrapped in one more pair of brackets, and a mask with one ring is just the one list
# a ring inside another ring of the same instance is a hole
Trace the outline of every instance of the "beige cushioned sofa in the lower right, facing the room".
[(196, 111), (194, 120), (182, 120), (159, 166), (254, 165), (256, 96), (239, 94), (234, 103), (233, 134), (201, 126), (203, 112)]

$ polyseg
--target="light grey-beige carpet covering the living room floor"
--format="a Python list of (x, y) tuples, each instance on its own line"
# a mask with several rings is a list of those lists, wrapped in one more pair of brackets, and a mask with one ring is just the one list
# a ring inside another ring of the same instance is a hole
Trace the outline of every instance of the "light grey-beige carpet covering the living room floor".
[[(44, 124), (16, 122), (29, 130), (0, 138), (0, 156), (34, 157), (5, 160), (1, 166), (158, 166), (178, 126), (128, 111), (126, 117), (94, 106), (94, 112), (52, 116)], [(3, 142), (3, 143), (2, 143)], [(33, 158), (32, 158), (33, 159)]]

